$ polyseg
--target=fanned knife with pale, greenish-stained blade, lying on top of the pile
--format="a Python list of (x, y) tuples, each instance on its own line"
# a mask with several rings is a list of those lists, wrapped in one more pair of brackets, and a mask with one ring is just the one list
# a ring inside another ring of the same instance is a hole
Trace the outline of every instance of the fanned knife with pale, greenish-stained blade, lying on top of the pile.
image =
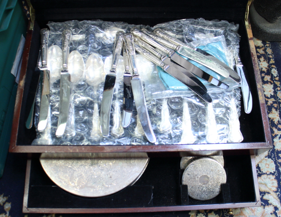
[[(167, 41), (166, 39), (163, 39), (157, 35), (152, 34), (147, 29), (142, 29), (142, 31), (144, 33), (146, 33), (147, 35), (149, 35), (150, 37), (152, 37), (153, 39), (155, 39), (156, 41), (158, 41), (162, 44), (165, 44), (166, 47), (169, 47), (170, 49), (177, 51), (181, 55), (186, 56), (186, 57), (190, 58), (191, 60), (194, 60), (194, 61), (202, 64), (203, 66), (206, 66), (206, 67), (214, 70), (216, 73), (224, 76), (225, 78), (229, 77), (229, 72), (224, 67), (222, 67), (218, 63), (214, 62), (210, 58), (198, 53), (197, 51), (193, 50), (192, 48), (186, 47), (186, 46), (185, 47), (178, 46), (172, 42)], [(174, 61), (176, 63), (178, 63), (176, 60), (174, 60)], [(185, 61), (188, 62), (187, 60), (185, 60)], [(180, 64), (180, 63), (178, 63), (178, 64)], [(181, 65), (181, 66), (183, 66), (183, 65)], [(186, 68), (185, 66), (183, 66), (183, 67)]]

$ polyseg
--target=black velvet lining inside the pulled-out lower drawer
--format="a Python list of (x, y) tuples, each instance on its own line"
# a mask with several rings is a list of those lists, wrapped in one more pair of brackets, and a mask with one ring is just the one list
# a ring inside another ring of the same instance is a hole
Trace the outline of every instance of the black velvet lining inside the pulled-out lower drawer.
[[(249, 155), (225, 156), (227, 183), (221, 193), (206, 201), (188, 197), (188, 205), (255, 202), (255, 188)], [(56, 186), (38, 159), (32, 159), (28, 208), (128, 208), (187, 205), (183, 202), (180, 158), (150, 158), (147, 168), (133, 185), (115, 194), (85, 198)], [(186, 196), (186, 195), (185, 195)]]

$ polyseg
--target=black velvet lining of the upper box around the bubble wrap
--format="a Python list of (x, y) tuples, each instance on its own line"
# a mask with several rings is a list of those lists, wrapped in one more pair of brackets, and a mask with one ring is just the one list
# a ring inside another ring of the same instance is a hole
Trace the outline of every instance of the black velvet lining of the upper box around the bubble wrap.
[[(246, 77), (251, 87), (253, 109), (250, 114), (244, 112), (241, 99), (240, 129), (244, 143), (265, 142), (263, 121), (259, 106), (257, 84), (252, 65), (247, 32), (244, 24), (244, 13), (247, 0), (230, 1), (91, 1), (91, 0), (33, 0), (32, 5), (36, 11), (36, 22), (32, 36), (32, 47), (26, 72), (26, 81), (23, 92), (21, 116), (18, 128), (17, 145), (30, 145), (36, 137), (36, 130), (32, 127), (27, 130), (25, 120), (28, 116), (26, 102), (32, 73), (36, 66), (38, 50), (40, 47), (40, 28), (47, 27), (48, 21), (62, 22), (67, 20), (123, 21), (129, 24), (156, 25), (172, 20), (203, 17), (206, 20), (219, 19), (239, 23), (241, 36), (240, 54), (242, 62), (247, 68)], [(106, 6), (106, 7), (104, 7)], [(161, 6), (161, 7), (160, 7)], [(37, 25), (38, 24), (38, 25)]]

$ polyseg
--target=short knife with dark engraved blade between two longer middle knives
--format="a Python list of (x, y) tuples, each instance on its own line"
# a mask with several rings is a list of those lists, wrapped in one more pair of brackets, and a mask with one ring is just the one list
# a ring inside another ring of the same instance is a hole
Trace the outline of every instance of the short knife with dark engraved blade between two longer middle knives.
[(125, 72), (123, 75), (124, 97), (123, 97), (122, 125), (123, 127), (128, 127), (131, 122), (131, 118), (133, 114), (134, 95), (133, 95), (133, 90), (131, 88), (132, 75), (130, 72), (128, 54), (125, 44), (123, 44), (123, 59), (124, 59)]

